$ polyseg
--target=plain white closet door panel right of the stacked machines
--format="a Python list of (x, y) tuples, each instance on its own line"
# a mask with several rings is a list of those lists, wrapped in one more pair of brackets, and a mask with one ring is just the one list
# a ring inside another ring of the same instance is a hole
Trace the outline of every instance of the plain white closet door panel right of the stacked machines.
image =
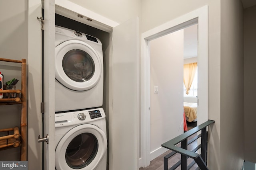
[[(110, 170), (138, 169), (138, 18), (113, 28)], [(110, 67), (111, 68), (111, 67)], [(110, 92), (111, 94), (111, 92)]]

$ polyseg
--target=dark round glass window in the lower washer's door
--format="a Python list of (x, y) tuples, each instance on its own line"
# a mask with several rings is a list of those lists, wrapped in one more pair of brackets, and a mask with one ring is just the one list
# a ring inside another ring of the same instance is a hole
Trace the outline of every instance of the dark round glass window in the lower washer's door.
[(98, 140), (92, 133), (76, 136), (66, 149), (66, 162), (73, 169), (88, 166), (98, 152)]

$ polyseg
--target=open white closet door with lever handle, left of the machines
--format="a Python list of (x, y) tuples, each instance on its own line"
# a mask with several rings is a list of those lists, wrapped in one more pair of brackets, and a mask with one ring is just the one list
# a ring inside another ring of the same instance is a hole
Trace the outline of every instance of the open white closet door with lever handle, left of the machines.
[(54, 114), (55, 114), (55, 3), (54, 0), (44, 0), (44, 57), (43, 57), (43, 102), (44, 102), (44, 134), (49, 136), (48, 143), (44, 142), (44, 170), (55, 169), (54, 144)]

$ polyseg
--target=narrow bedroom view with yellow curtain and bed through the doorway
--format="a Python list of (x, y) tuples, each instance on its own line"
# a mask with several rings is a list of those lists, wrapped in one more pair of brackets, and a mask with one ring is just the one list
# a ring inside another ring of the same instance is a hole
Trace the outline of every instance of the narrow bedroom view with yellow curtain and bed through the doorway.
[[(183, 106), (188, 130), (198, 118), (198, 24), (184, 28)], [(200, 92), (199, 92), (200, 94)]]

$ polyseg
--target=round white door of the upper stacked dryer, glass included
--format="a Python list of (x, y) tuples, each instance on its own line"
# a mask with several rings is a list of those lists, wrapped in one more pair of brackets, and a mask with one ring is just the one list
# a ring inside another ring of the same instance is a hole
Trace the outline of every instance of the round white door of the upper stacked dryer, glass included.
[(85, 91), (100, 80), (102, 63), (87, 43), (68, 40), (55, 47), (55, 78), (66, 88)]

